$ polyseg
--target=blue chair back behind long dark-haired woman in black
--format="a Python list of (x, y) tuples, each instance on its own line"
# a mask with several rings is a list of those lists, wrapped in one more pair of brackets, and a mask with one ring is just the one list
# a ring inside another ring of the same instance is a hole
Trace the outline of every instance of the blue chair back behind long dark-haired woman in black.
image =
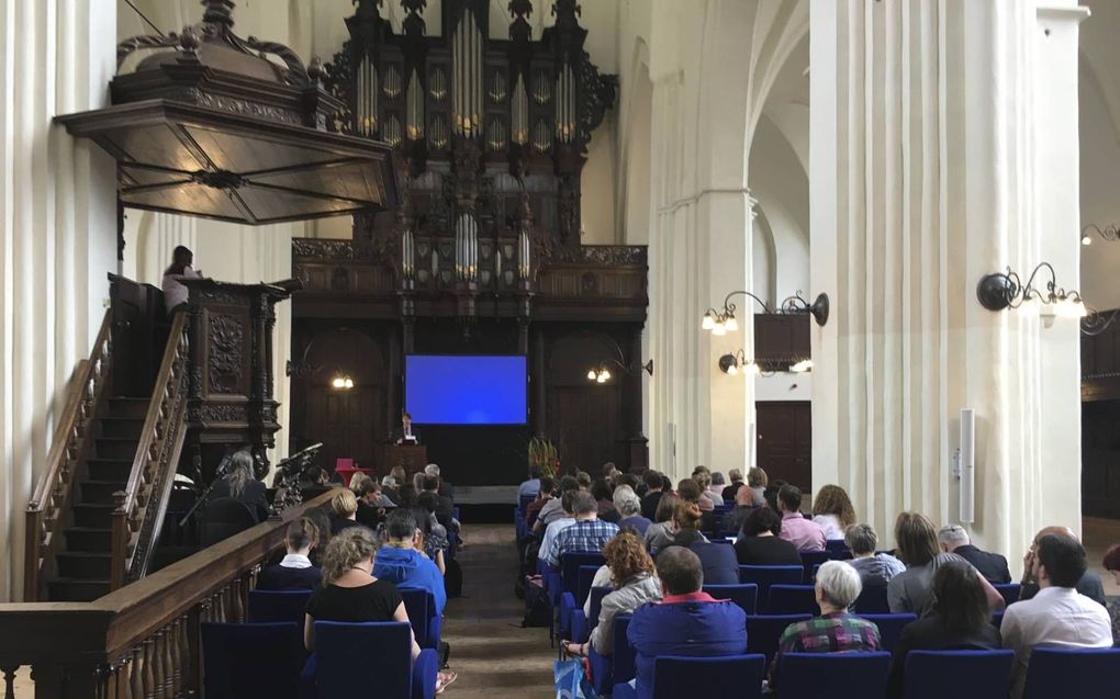
[[(906, 654), (906, 699), (1006, 697), (1014, 651), (911, 651)], [(968, 678), (962, 682), (961, 678)]]

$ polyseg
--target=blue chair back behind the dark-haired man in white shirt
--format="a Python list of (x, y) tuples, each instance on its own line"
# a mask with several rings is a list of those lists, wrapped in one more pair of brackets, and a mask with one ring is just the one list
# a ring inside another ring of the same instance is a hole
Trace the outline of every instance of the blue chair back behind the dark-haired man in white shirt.
[[(1109, 678), (1112, 678), (1111, 680)], [(1036, 648), (1023, 699), (1093, 699), (1116, 690), (1120, 648)]]

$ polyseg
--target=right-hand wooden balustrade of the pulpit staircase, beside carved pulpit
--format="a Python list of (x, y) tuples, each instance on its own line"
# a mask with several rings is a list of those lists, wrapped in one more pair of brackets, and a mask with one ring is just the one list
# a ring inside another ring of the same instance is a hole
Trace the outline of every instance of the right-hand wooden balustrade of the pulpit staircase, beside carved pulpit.
[(177, 313), (148, 405), (128, 485), (114, 493), (112, 589), (147, 573), (187, 433), (186, 313)]

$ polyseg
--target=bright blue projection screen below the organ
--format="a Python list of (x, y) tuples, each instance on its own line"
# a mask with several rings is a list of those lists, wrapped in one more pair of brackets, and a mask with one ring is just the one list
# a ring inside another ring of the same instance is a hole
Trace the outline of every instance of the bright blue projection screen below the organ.
[(419, 425), (524, 425), (523, 356), (409, 355), (404, 400)]

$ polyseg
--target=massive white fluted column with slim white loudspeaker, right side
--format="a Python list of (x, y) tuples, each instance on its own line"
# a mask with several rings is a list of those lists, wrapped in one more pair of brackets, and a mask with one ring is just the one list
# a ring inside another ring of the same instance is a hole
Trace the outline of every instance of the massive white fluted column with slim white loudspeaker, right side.
[(958, 415), (973, 408), (972, 530), (1014, 561), (1038, 527), (1080, 521), (1077, 329), (987, 311), (976, 286), (1044, 259), (1076, 284), (1080, 16), (812, 9), (811, 264), (834, 310), (813, 347), (814, 487), (847, 488), (887, 541), (903, 510), (955, 521)]

